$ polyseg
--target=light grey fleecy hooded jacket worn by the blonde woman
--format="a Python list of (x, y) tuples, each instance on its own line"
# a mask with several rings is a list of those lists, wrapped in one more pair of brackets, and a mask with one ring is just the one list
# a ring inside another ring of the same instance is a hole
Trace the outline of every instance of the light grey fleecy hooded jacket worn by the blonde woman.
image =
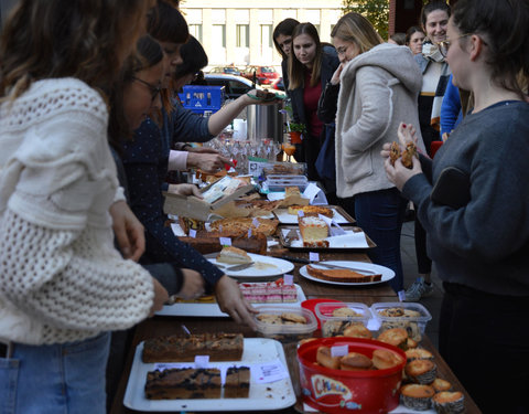
[(422, 75), (409, 47), (382, 43), (346, 64), (336, 113), (336, 189), (348, 198), (392, 188), (384, 169), (384, 144), (398, 141), (402, 121), (419, 130)]

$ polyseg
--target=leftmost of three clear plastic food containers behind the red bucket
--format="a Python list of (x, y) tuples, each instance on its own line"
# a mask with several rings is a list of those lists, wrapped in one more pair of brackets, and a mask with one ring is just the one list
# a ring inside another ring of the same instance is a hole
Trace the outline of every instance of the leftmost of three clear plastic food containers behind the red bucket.
[[(288, 306), (259, 306), (256, 308), (259, 310), (255, 318), (257, 332), (260, 337), (290, 342), (311, 338), (316, 330), (316, 318), (310, 310), (304, 308)], [(299, 317), (303, 317), (306, 323), (291, 323), (293, 319)]]

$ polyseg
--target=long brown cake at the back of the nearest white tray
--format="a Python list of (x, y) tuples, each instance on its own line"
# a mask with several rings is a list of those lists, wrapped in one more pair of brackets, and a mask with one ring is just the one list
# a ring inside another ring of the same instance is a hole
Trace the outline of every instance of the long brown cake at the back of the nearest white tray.
[(240, 361), (241, 333), (201, 333), (170, 336), (145, 340), (142, 360), (150, 362), (192, 362), (196, 355), (209, 355), (209, 361)]

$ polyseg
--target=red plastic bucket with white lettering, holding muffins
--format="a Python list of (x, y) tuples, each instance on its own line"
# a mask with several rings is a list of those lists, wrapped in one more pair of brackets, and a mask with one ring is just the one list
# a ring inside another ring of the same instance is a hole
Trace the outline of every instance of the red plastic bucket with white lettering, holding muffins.
[[(316, 361), (319, 347), (348, 346), (349, 352), (373, 358), (376, 349), (399, 354), (402, 363), (386, 370), (342, 371), (322, 367)], [(360, 338), (321, 338), (298, 349), (303, 402), (323, 413), (387, 413), (399, 405), (399, 389), (406, 353), (388, 343)]]

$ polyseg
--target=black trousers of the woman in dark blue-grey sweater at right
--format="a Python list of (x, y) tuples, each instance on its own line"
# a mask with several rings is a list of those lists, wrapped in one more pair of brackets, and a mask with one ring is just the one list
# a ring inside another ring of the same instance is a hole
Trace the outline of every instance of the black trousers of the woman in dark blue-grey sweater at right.
[(483, 413), (529, 413), (529, 297), (443, 286), (442, 357)]

